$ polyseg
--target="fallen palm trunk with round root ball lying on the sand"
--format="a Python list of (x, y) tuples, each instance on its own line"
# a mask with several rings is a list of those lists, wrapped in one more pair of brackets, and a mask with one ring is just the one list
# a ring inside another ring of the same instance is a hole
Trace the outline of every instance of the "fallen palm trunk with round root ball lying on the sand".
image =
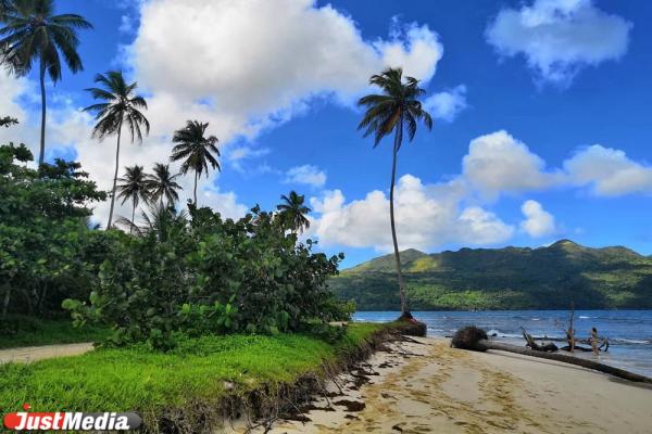
[(593, 360), (580, 359), (578, 357), (568, 356), (564, 354), (537, 352), (529, 348), (522, 348), (515, 345), (491, 342), (487, 336), (487, 332), (477, 327), (465, 327), (463, 329), (457, 330), (453, 335), (451, 346), (454, 348), (471, 349), (474, 352), (486, 352), (488, 349), (496, 349), (500, 352), (521, 354), (523, 356), (555, 360), (564, 363), (579, 366), (587, 369), (592, 369), (599, 372), (609, 373), (611, 375), (638, 383), (652, 384), (652, 379), (649, 376), (639, 375), (638, 373), (629, 372), (619, 368), (614, 368), (609, 365), (599, 363)]

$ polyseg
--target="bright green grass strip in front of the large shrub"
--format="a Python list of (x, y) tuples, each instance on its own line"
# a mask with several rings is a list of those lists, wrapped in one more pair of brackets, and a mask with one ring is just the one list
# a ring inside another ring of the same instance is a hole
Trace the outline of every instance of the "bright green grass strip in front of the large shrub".
[[(34, 411), (133, 411), (152, 420), (163, 409), (216, 405), (239, 392), (291, 383), (360, 346), (385, 326), (351, 323), (335, 344), (301, 334), (187, 340), (171, 353), (145, 346), (0, 366), (0, 413), (24, 403)], [(226, 383), (228, 382), (228, 383)]]

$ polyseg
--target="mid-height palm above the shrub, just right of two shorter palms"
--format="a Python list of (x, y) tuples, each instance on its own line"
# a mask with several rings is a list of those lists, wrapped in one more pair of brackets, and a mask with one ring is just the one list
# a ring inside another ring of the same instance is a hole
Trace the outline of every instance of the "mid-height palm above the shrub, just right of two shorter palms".
[[(205, 170), (209, 176), (209, 163), (211, 167), (221, 171), (220, 162), (215, 156), (220, 156), (217, 149), (217, 138), (210, 136), (204, 138), (209, 124), (202, 124), (199, 120), (188, 120), (185, 128), (174, 132), (172, 141), (177, 143), (172, 150), (173, 162), (184, 161), (181, 164), (181, 174), (186, 175), (189, 170), (195, 170), (195, 206), (197, 206), (197, 179)], [(213, 156), (215, 154), (215, 156)]]

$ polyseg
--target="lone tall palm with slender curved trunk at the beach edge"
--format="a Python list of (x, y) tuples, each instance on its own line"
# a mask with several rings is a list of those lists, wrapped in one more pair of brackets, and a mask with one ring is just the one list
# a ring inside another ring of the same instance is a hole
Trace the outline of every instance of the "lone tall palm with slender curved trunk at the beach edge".
[(403, 142), (403, 128), (408, 130), (410, 141), (416, 133), (417, 122), (421, 120), (428, 129), (432, 128), (432, 118), (426, 112), (418, 98), (426, 91), (418, 87), (418, 80), (413, 77), (405, 77), (403, 81), (403, 71), (401, 68), (388, 68), (380, 75), (374, 75), (369, 84), (378, 86), (381, 94), (369, 94), (363, 97), (358, 102), (365, 106), (366, 112), (358, 129), (365, 129), (364, 137), (374, 135), (374, 148), (380, 143), (380, 140), (394, 133), (392, 163), (391, 163), (391, 182), (389, 188), (389, 218), (391, 222), (391, 238), (393, 241), (394, 258), (397, 263), (397, 273), (399, 275), (399, 291), (401, 294), (401, 314), (406, 314), (408, 298), (405, 295), (405, 283), (401, 272), (401, 256), (399, 254), (399, 243), (397, 241), (397, 229), (394, 224), (394, 202), (393, 192), (397, 176), (397, 156)]

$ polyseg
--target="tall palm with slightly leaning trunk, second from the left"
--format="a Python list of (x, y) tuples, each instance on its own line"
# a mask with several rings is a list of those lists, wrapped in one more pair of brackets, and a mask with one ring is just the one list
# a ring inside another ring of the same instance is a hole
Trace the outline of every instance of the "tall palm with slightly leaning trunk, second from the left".
[(147, 110), (147, 102), (142, 97), (134, 92), (138, 87), (137, 82), (127, 85), (122, 72), (112, 71), (106, 75), (98, 74), (95, 81), (102, 85), (103, 88), (86, 89), (95, 100), (104, 102), (90, 105), (84, 108), (85, 112), (95, 112), (97, 125), (92, 130), (95, 138), (104, 139), (108, 136), (117, 135), (117, 145), (115, 148), (115, 175), (113, 176), (113, 189), (111, 194), (111, 209), (109, 212), (109, 222), (106, 229), (111, 229), (113, 222), (113, 208), (115, 205), (115, 189), (117, 186), (117, 170), (120, 167), (120, 139), (122, 127), (125, 125), (131, 135), (131, 143), (136, 139), (142, 142), (142, 130), (149, 135), (149, 120), (140, 112)]

